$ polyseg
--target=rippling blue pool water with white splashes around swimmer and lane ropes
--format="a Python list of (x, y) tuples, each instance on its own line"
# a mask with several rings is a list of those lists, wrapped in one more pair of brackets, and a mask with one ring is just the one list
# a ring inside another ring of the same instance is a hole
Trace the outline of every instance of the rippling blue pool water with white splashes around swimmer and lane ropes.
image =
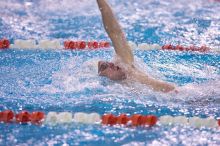
[[(127, 38), (136, 43), (196, 44), (218, 48), (220, 4), (198, 0), (110, 1)], [(45, 7), (47, 6), (47, 7)], [(77, 8), (77, 9), (76, 9)], [(0, 37), (108, 40), (95, 1), (3, 0)], [(144, 71), (179, 87), (178, 95), (124, 86), (97, 75), (100, 51), (4, 50), (0, 52), (0, 110), (128, 113), (220, 117), (217, 52), (135, 50)], [(72, 123), (34, 126), (0, 123), (0, 145), (219, 145), (220, 130), (187, 126), (105, 127)]]

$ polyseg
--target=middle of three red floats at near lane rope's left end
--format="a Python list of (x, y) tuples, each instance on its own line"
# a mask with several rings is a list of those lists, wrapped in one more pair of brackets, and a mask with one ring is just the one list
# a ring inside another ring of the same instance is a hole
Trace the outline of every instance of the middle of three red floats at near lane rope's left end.
[(25, 124), (31, 121), (30, 116), (31, 114), (28, 111), (21, 111), (15, 116), (15, 120), (17, 123)]

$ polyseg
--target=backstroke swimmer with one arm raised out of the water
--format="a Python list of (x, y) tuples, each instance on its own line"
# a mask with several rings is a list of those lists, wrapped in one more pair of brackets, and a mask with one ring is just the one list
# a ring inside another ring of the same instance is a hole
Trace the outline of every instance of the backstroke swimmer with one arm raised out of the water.
[(97, 0), (97, 3), (102, 14), (104, 28), (113, 43), (117, 55), (117, 60), (114, 63), (98, 62), (99, 76), (105, 76), (115, 81), (136, 81), (159, 92), (176, 91), (174, 85), (154, 79), (134, 66), (133, 53), (111, 7), (106, 0)]

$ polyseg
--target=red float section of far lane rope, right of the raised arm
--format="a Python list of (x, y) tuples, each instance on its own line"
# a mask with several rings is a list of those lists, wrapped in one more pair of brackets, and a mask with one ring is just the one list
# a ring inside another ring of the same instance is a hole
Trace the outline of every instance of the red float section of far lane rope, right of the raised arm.
[(181, 45), (173, 46), (171, 44), (166, 44), (166, 45), (162, 46), (162, 50), (208, 52), (208, 51), (210, 51), (210, 48), (206, 47), (206, 46), (201, 46), (201, 47), (196, 47), (196, 46), (184, 47), (184, 46), (181, 46)]

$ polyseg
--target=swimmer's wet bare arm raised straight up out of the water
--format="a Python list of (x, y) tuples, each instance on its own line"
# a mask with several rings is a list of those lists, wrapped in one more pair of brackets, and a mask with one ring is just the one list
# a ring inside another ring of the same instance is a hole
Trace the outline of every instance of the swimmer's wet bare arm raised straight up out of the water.
[(106, 0), (97, 0), (97, 3), (102, 14), (104, 28), (113, 43), (116, 54), (124, 63), (132, 65), (134, 62), (133, 53), (111, 7)]

